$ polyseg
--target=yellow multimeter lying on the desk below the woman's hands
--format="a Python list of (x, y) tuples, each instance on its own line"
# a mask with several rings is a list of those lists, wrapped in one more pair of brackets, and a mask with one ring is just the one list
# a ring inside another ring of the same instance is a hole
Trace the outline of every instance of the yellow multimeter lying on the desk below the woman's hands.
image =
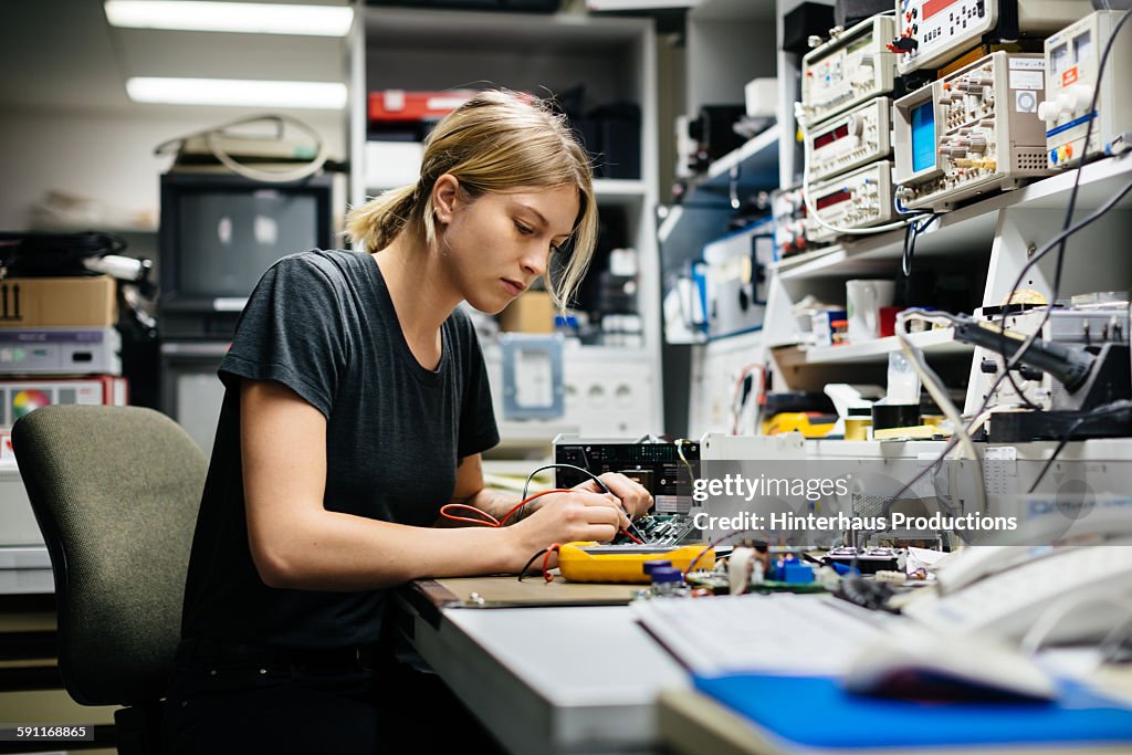
[(597, 542), (568, 542), (558, 551), (558, 570), (571, 582), (650, 582), (645, 561), (666, 560), (687, 570), (710, 569), (715, 565), (715, 550), (707, 546), (603, 546)]

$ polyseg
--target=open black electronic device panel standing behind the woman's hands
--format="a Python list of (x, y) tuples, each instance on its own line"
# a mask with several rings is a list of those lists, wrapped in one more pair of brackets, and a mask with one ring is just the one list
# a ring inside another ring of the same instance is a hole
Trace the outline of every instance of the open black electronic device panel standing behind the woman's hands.
[[(652, 494), (654, 514), (687, 514), (692, 507), (692, 481), (700, 477), (700, 444), (559, 436), (555, 439), (555, 463), (573, 464), (598, 475), (620, 472)], [(573, 488), (589, 479), (575, 470), (555, 470), (555, 484), (559, 488)]]

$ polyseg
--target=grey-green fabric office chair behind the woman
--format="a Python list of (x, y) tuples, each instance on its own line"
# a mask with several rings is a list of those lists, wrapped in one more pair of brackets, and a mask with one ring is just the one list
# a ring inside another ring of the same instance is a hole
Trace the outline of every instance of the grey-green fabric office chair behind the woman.
[(51, 555), (63, 687), (82, 705), (125, 706), (120, 754), (158, 752), (207, 461), (136, 406), (44, 406), (11, 439)]

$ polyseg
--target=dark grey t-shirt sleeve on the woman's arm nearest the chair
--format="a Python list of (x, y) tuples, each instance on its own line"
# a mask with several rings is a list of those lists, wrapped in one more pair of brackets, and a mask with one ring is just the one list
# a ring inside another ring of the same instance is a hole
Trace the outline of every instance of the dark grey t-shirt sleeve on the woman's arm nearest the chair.
[[(273, 380), (331, 415), (346, 348), (341, 306), (312, 252), (284, 257), (259, 280), (220, 366), (221, 380)], [(333, 266), (329, 266), (333, 268)]]

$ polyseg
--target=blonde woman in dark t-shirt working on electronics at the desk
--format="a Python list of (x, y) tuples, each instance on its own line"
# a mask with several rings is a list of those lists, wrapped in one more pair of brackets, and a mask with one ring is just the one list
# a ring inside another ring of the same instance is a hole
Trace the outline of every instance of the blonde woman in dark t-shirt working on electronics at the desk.
[(379, 749), (397, 696), (381, 692), (417, 678), (368, 650), (388, 587), (515, 573), (648, 509), (644, 488), (603, 475), (614, 495), (590, 482), (508, 526), (432, 526), (443, 504), (503, 518), (517, 503), (484, 489), (480, 453), (498, 432), (457, 304), (498, 312), (552, 265), (567, 301), (595, 226), (585, 152), (563, 119), (488, 92), (437, 125), (417, 185), (348, 216), (376, 252), (305, 252), (264, 275), (220, 368), (169, 696), (177, 749)]

